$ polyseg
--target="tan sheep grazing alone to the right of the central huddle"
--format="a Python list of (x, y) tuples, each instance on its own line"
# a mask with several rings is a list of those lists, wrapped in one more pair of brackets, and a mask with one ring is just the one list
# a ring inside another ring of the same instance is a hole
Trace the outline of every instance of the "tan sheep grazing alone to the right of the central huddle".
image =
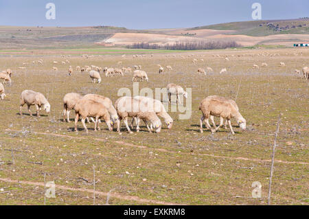
[[(200, 119), (200, 131), (203, 132), (203, 122), (205, 122), (207, 128), (211, 130), (212, 133), (216, 132), (222, 125), (223, 119), (227, 119), (229, 123), (229, 128), (231, 128), (232, 135), (235, 135), (233, 128), (231, 126), (231, 118), (235, 117), (240, 128), (246, 129), (246, 119), (242, 117), (239, 111), (230, 102), (213, 99), (213, 97), (206, 97), (202, 100), (199, 109), (202, 111), (203, 116)], [(208, 118), (210, 115), (220, 117), (220, 125), (213, 130), (209, 125)]]

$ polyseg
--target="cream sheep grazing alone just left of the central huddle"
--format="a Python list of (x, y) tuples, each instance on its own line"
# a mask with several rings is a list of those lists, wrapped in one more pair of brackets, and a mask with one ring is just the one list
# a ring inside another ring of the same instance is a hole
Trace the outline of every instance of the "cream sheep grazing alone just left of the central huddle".
[(21, 108), (24, 104), (27, 104), (28, 111), (30, 113), (30, 116), (32, 116), (32, 113), (30, 111), (30, 106), (35, 105), (36, 106), (36, 116), (40, 117), (38, 114), (39, 111), (43, 109), (46, 111), (46, 113), (49, 113), (50, 111), (50, 104), (44, 97), (42, 93), (38, 93), (31, 90), (25, 90), (21, 92), (21, 104), (19, 107), (19, 115), (21, 115)]

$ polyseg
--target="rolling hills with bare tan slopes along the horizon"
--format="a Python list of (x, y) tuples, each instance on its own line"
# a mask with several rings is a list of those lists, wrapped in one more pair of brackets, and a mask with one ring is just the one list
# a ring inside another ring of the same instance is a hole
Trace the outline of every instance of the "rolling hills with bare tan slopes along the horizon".
[(242, 21), (193, 28), (128, 30), (124, 27), (0, 26), (0, 49), (70, 49), (158, 45), (194, 41), (235, 41), (242, 46), (309, 42), (309, 19)]

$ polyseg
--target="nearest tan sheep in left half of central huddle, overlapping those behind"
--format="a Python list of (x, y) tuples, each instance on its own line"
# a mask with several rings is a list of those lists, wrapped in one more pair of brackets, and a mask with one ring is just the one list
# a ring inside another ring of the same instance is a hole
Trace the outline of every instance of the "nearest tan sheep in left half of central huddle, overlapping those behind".
[(108, 130), (109, 131), (112, 130), (111, 121), (109, 119), (110, 116), (108, 114), (108, 111), (105, 108), (105, 106), (101, 104), (100, 102), (96, 102), (94, 100), (89, 100), (89, 99), (81, 99), (81, 100), (78, 100), (74, 109), (75, 109), (74, 130), (76, 132), (78, 131), (77, 123), (80, 117), (82, 117), (82, 125), (84, 126), (84, 129), (86, 130), (87, 133), (88, 133), (88, 129), (86, 125), (84, 124), (84, 121), (85, 119), (87, 119), (87, 117), (95, 117), (95, 131), (97, 130), (97, 126), (98, 126), (98, 129), (101, 130), (99, 126), (99, 121), (98, 121), (98, 119), (100, 118), (104, 119), (104, 121), (106, 122), (106, 125), (108, 126)]

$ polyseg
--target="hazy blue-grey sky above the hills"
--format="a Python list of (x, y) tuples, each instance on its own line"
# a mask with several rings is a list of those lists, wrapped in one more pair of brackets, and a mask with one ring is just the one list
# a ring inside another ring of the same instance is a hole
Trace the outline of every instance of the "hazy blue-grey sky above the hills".
[[(45, 18), (49, 2), (56, 5), (54, 20)], [(0, 25), (196, 27), (251, 21), (255, 2), (264, 20), (309, 16), (309, 0), (0, 0)]]

